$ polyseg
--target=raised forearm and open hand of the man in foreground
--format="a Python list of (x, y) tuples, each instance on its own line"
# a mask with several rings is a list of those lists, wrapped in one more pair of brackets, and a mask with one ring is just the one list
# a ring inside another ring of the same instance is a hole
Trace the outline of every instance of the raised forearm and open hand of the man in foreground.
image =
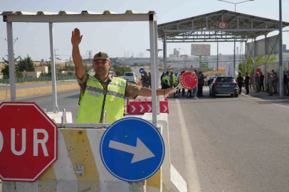
[(85, 68), (83, 67), (83, 59), (80, 56), (78, 45), (80, 44), (83, 36), (80, 36), (80, 31), (75, 28), (71, 36), (71, 44), (73, 45), (73, 63), (75, 65), (75, 74), (82, 80), (85, 75)]

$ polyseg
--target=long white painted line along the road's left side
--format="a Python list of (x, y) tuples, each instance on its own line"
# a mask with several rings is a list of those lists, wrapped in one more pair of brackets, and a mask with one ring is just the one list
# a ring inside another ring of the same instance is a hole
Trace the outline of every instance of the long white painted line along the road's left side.
[(186, 178), (188, 183), (189, 191), (198, 192), (201, 191), (199, 185), (199, 178), (196, 173), (196, 163), (194, 161), (194, 152), (191, 147), (191, 142), (189, 140), (188, 129), (186, 128), (186, 123), (184, 121), (184, 115), (179, 105), (179, 100), (177, 102), (177, 114), (179, 116), (179, 127), (182, 135), (182, 145), (184, 149), (184, 166), (186, 167)]

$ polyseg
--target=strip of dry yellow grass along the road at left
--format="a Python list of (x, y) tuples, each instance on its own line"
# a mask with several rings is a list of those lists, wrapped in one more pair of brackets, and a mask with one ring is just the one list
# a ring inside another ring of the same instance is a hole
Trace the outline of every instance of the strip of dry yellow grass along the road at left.
[[(70, 84), (70, 85), (58, 85), (56, 89), (57, 92), (63, 92), (68, 90), (80, 90), (80, 87), (78, 84)], [(48, 93), (52, 93), (52, 87), (19, 89), (16, 90), (16, 98), (31, 97), (33, 95), (44, 95)], [(7, 97), (6, 97), (6, 90), (0, 91), (0, 100), (9, 100), (9, 99), (10, 99), (10, 90), (7, 90)]]

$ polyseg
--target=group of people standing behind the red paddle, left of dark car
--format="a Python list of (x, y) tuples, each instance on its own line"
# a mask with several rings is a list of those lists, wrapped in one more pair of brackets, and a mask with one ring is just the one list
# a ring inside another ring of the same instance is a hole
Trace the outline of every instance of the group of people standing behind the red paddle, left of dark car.
[[(185, 73), (186, 71), (182, 71), (182, 73), (174, 73), (174, 72), (167, 72), (163, 73), (161, 76), (161, 83), (162, 83), (162, 90), (165, 90), (169, 87), (177, 87), (179, 85), (179, 80), (181, 76)], [(198, 70), (194, 70), (194, 73), (198, 77), (198, 85), (194, 87), (193, 90), (188, 90), (186, 97), (190, 98), (193, 97), (194, 100), (197, 100), (198, 97), (204, 97), (203, 95), (203, 86), (204, 86), (204, 81), (206, 77), (204, 76), (203, 73), (199, 72)], [(179, 89), (177, 92), (174, 94), (174, 98), (179, 97), (178, 94), (181, 93), (181, 90)], [(185, 89), (182, 88), (182, 95), (185, 95)], [(198, 97), (196, 97), (198, 96)]]

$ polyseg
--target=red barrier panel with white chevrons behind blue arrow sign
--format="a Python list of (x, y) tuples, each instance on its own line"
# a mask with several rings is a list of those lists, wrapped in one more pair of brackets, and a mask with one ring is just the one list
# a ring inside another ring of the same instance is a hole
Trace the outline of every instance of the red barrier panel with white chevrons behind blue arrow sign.
[[(169, 114), (167, 100), (159, 101), (159, 110), (161, 113)], [(130, 101), (127, 105), (128, 114), (144, 114), (146, 112), (152, 112), (152, 101)]]

